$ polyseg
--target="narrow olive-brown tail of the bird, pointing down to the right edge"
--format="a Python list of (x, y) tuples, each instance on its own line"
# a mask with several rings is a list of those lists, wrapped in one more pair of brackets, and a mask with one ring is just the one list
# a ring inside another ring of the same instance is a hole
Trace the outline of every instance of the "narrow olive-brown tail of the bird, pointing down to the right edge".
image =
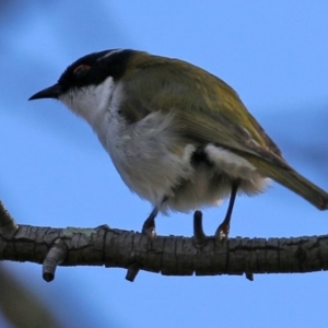
[(260, 157), (247, 159), (265, 176), (298, 194), (319, 210), (328, 209), (328, 194), (288, 165), (277, 165)]

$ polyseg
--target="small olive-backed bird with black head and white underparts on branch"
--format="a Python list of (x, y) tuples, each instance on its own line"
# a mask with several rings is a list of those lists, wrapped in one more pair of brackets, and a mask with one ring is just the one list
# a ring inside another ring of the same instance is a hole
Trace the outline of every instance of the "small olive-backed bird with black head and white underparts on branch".
[(30, 99), (56, 98), (98, 136), (126, 185), (153, 211), (142, 231), (155, 236), (159, 211), (188, 212), (230, 197), (216, 230), (226, 238), (236, 194), (270, 179), (320, 210), (328, 194), (295, 172), (236, 92), (188, 62), (125, 49), (84, 56)]

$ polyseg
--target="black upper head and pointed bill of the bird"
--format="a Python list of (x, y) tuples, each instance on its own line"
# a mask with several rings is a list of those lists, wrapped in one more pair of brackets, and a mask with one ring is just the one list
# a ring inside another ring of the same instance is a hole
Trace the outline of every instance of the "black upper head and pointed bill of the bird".
[(28, 101), (58, 98), (69, 90), (97, 85), (108, 77), (117, 81), (125, 73), (133, 52), (112, 49), (86, 55), (69, 66), (56, 84), (34, 94)]

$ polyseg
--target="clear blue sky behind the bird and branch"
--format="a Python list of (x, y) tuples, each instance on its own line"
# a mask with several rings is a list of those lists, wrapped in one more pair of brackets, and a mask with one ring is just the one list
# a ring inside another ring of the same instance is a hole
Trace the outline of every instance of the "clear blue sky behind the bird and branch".
[[(17, 1), (0, 13), (0, 199), (17, 223), (140, 230), (151, 211), (120, 180), (89, 126), (54, 101), (27, 102), (78, 58), (132, 48), (200, 66), (232, 85), (285, 159), (328, 190), (328, 1)], [(225, 214), (206, 210), (213, 234)], [(160, 215), (192, 234), (191, 214)], [(231, 237), (327, 234), (328, 214), (272, 184), (237, 199)], [(326, 327), (326, 272), (163, 277), (5, 262), (66, 327)], [(0, 314), (1, 317), (1, 314)], [(1, 327), (12, 327), (0, 319)]]

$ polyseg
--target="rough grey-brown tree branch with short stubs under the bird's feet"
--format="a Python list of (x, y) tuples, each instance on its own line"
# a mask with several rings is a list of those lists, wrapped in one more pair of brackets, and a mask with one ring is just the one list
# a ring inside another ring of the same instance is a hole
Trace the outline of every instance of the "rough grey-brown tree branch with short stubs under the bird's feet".
[(200, 212), (195, 213), (194, 237), (159, 236), (154, 241), (141, 233), (106, 225), (95, 229), (16, 226), (9, 218), (0, 202), (0, 259), (44, 263), (46, 281), (54, 279), (58, 265), (126, 268), (130, 281), (139, 270), (164, 276), (246, 273), (251, 280), (251, 273), (328, 269), (328, 235), (237, 237), (218, 244), (213, 236), (202, 233)]

